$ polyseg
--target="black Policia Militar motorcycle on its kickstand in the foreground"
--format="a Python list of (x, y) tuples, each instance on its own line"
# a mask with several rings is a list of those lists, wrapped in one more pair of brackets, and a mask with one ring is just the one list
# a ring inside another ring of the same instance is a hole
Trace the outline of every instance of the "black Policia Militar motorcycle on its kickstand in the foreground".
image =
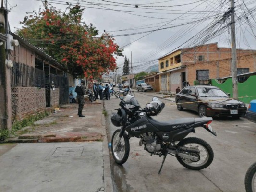
[(203, 127), (217, 136), (210, 125), (211, 117), (158, 121), (151, 116), (158, 115), (165, 104), (157, 97), (143, 109), (134, 96), (127, 95), (124, 101), (120, 95), (120, 99), (120, 108), (110, 117), (114, 126), (121, 127), (113, 133), (111, 139), (112, 156), (117, 164), (127, 161), (131, 137), (140, 139), (139, 145), (144, 146), (151, 156), (163, 156), (158, 174), (161, 173), (168, 154), (175, 156), (184, 167), (193, 170), (207, 168), (212, 163), (214, 153), (206, 141), (196, 137), (185, 138), (189, 133), (195, 133), (196, 127)]

